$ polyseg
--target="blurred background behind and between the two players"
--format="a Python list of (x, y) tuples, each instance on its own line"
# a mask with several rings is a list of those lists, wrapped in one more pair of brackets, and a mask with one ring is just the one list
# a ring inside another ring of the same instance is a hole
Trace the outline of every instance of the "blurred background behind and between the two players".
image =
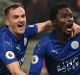
[[(49, 11), (52, 5), (56, 3), (67, 3), (72, 11), (75, 22), (80, 25), (80, 0), (0, 0), (0, 28), (4, 25), (3, 9), (12, 3), (21, 3), (26, 11), (27, 24), (34, 24), (49, 20)], [(26, 59), (22, 66), (25, 72), (29, 72), (33, 49), (36, 43), (48, 32), (42, 32), (30, 39), (26, 48)], [(45, 70), (45, 65), (41, 71), (41, 75), (48, 75)], [(45, 74), (43, 74), (45, 73)]]

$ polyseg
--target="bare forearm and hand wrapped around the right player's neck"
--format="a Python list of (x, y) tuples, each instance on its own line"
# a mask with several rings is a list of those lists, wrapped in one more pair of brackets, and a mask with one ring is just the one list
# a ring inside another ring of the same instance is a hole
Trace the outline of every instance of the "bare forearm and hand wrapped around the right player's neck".
[[(53, 30), (54, 26), (52, 25), (51, 21), (45, 21), (42, 23), (37, 23), (38, 27), (38, 33), (44, 31), (44, 30)], [(74, 37), (76, 34), (80, 33), (80, 26), (76, 23), (73, 24), (73, 32), (72, 37)]]

